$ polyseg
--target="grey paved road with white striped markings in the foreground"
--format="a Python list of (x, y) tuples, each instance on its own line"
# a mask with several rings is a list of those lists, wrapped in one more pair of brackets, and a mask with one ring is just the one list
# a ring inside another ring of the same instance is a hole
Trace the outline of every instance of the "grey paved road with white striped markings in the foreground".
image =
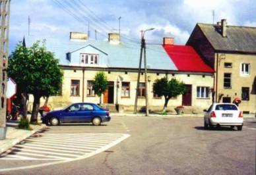
[[(245, 119), (238, 132), (204, 130), (203, 118), (116, 116), (105, 126), (50, 127), (13, 148), (18, 151), (13, 155), (20, 158), (10, 154), (0, 158), (0, 169), (69, 162), (0, 174), (255, 174), (255, 134), (254, 118)], [(117, 145), (99, 153), (115, 141)], [(63, 147), (55, 149), (59, 145)], [(92, 153), (92, 147), (98, 154), (77, 159)]]

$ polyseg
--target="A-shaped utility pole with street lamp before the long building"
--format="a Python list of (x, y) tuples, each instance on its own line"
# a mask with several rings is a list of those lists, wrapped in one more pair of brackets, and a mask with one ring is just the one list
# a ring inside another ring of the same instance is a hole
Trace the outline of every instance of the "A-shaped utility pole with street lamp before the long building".
[(145, 78), (145, 98), (146, 98), (146, 116), (148, 116), (148, 76), (147, 76), (147, 70), (146, 70), (146, 42), (144, 39), (145, 32), (149, 30), (154, 30), (154, 28), (149, 28), (147, 30), (141, 31), (141, 55), (140, 55), (140, 61), (139, 61), (139, 72), (138, 72), (138, 78), (137, 78), (137, 88), (136, 88), (136, 97), (135, 97), (135, 106), (134, 106), (134, 114), (137, 113), (137, 103), (138, 103), (138, 93), (139, 93), (139, 84), (140, 84), (140, 78), (141, 78), (141, 62), (143, 59), (143, 53), (144, 53), (144, 78)]

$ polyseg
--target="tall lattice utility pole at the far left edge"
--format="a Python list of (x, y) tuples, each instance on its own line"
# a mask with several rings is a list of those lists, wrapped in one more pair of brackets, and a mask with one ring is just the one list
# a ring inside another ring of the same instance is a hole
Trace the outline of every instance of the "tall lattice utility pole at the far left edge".
[[(1, 0), (1, 24), (0, 24), (0, 83), (1, 83), (1, 107), (0, 107), (0, 140), (5, 139), (6, 127), (6, 90), (7, 90), (7, 66), (9, 53), (9, 18), (10, 0)], [(4, 17), (5, 16), (5, 17)]]

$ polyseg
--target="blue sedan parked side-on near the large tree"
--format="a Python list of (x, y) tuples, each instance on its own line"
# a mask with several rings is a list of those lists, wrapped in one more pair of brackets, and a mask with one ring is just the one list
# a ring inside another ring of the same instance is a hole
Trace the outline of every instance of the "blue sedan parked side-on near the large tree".
[(74, 103), (63, 110), (50, 111), (42, 117), (44, 124), (57, 126), (61, 123), (91, 123), (100, 125), (110, 121), (110, 111), (94, 103)]

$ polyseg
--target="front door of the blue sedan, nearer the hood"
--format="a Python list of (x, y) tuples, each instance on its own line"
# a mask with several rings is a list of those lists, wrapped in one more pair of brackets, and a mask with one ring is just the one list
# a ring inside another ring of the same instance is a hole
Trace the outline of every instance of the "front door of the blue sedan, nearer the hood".
[(74, 104), (68, 107), (65, 112), (63, 112), (63, 122), (79, 122), (79, 112), (80, 104)]

